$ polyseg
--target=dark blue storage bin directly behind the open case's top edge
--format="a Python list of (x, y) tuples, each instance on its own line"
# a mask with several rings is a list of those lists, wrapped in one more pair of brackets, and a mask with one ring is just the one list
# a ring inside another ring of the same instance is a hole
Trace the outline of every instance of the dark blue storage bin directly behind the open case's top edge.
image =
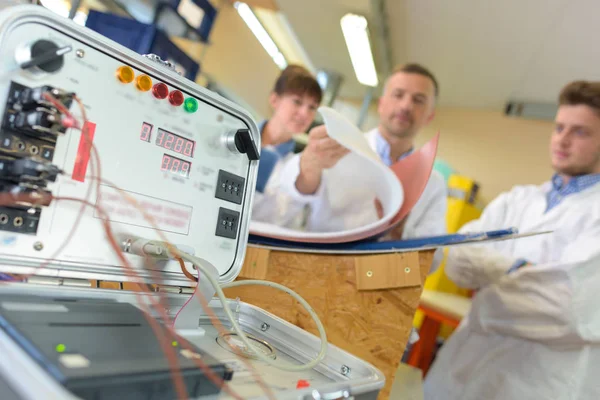
[(90, 10), (85, 26), (138, 54), (156, 54), (171, 61), (192, 81), (200, 72), (200, 65), (154, 25)]

